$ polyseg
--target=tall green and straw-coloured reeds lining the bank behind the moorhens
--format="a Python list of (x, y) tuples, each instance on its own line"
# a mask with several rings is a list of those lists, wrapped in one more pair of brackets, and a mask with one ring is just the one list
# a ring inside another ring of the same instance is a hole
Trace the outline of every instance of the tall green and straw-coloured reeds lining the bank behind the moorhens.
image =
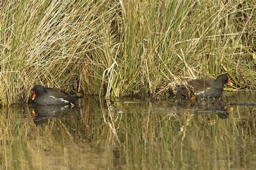
[(255, 89), (254, 1), (0, 3), (2, 105), (28, 101), (35, 84), (157, 97), (224, 72)]

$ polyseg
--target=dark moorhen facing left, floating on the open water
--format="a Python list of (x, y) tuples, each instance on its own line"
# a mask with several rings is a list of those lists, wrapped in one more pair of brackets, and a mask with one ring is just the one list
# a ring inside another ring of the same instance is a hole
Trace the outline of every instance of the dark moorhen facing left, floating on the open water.
[(45, 88), (36, 85), (32, 88), (32, 102), (34, 104), (72, 104), (81, 96), (71, 95), (56, 88)]

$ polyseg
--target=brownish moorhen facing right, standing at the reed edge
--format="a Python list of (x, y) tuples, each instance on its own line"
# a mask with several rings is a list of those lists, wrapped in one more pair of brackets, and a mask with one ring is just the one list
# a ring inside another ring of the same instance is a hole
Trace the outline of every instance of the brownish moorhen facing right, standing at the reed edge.
[(194, 95), (200, 97), (220, 97), (223, 94), (224, 84), (230, 84), (231, 81), (227, 74), (221, 74), (215, 80), (195, 79), (187, 82), (188, 85), (178, 87), (177, 94), (187, 97)]

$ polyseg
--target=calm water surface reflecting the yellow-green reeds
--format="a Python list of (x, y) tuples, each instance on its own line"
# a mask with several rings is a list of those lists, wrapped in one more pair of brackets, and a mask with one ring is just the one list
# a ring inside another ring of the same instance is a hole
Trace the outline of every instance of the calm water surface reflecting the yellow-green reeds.
[(255, 169), (255, 93), (1, 107), (2, 169)]

